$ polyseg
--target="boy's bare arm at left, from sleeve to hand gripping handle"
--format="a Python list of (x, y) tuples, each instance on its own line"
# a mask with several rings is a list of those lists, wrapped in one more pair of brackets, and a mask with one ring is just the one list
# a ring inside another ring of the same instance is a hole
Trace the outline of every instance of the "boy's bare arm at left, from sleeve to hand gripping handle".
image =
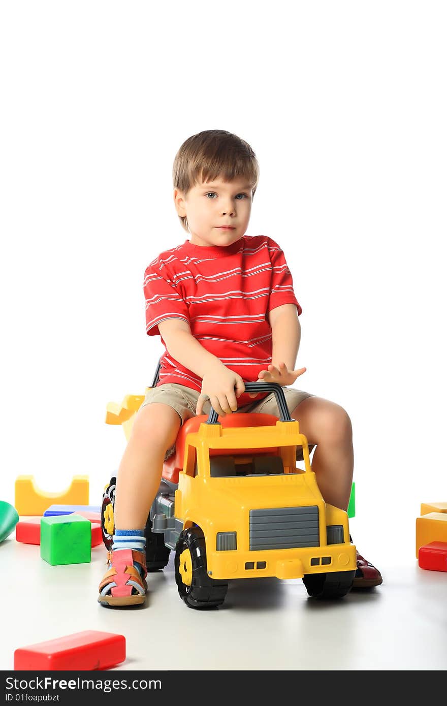
[(166, 349), (185, 368), (202, 378), (202, 391), (196, 414), (201, 414), (203, 402), (210, 399), (217, 414), (237, 410), (236, 397), (245, 390), (242, 377), (227, 368), (215, 355), (207, 351), (191, 334), (189, 323), (181, 318), (160, 321), (158, 330)]

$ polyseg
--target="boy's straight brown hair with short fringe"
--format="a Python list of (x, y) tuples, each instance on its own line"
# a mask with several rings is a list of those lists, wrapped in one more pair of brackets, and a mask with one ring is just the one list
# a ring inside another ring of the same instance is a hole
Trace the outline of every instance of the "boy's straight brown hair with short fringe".
[[(226, 130), (203, 130), (185, 140), (175, 155), (174, 189), (186, 196), (198, 181), (213, 181), (217, 177), (224, 181), (246, 179), (254, 196), (259, 179), (258, 160), (249, 143), (237, 135)], [(189, 233), (186, 216), (179, 219)]]

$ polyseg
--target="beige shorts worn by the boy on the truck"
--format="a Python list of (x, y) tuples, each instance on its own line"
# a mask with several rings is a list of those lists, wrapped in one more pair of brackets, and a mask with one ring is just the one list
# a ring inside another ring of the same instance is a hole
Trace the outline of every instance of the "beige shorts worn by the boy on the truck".
[[(295, 388), (282, 388), (282, 391), (285, 394), (287, 407), (289, 407), (290, 412), (292, 412), (300, 402), (306, 400), (307, 397), (314, 397), (311, 393), (305, 393), (303, 390), (296, 390)], [(175, 409), (177, 414), (179, 414), (181, 424), (183, 424), (186, 419), (196, 417), (196, 406), (199, 395), (198, 390), (187, 388), (185, 385), (165, 383), (164, 385), (150, 388), (146, 393), (141, 407), (150, 405), (152, 402), (162, 402), (163, 405), (169, 405), (169, 407)], [(210, 411), (210, 400), (206, 400), (203, 404), (203, 414), (210, 414)], [(237, 412), (262, 412), (263, 414), (275, 414), (278, 417), (280, 416), (275, 393), (270, 393), (270, 395), (264, 397), (263, 400), (254, 400), (248, 405), (238, 407)], [(234, 414), (237, 414), (237, 412), (234, 412)], [(314, 446), (309, 444), (309, 451), (313, 448)], [(174, 449), (175, 445), (167, 450), (165, 460), (167, 460), (169, 456), (172, 456)], [(297, 460), (302, 460), (301, 450), (297, 450)]]

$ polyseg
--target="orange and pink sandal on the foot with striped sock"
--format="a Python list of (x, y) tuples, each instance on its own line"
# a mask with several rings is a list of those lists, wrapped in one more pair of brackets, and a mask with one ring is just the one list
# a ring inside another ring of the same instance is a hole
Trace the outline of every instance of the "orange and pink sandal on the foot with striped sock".
[[(143, 567), (143, 576), (134, 566)], [(119, 549), (107, 552), (108, 570), (100, 583), (97, 602), (102, 606), (134, 606), (145, 602), (148, 584), (146, 555), (136, 549)]]

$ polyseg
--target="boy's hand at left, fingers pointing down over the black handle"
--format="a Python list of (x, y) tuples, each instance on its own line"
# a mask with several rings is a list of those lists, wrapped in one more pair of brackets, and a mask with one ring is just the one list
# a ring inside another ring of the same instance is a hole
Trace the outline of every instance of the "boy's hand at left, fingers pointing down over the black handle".
[(203, 404), (210, 400), (221, 417), (237, 410), (237, 397), (245, 390), (244, 381), (237, 373), (225, 367), (220, 361), (211, 367), (202, 378), (202, 390), (197, 400), (196, 414), (202, 414)]

